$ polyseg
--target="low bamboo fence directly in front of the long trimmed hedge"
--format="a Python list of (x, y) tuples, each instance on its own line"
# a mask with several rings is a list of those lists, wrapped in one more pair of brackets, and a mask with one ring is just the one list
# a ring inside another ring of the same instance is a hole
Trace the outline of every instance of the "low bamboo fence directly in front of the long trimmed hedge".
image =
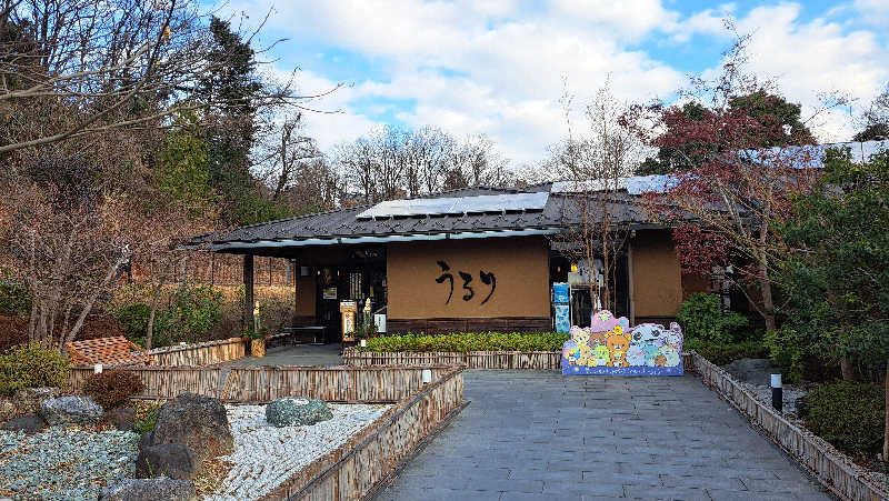
[(467, 369), (525, 369), (535, 371), (561, 370), (561, 351), (467, 351), (428, 353), (360, 352), (347, 348), (342, 363), (368, 365), (465, 365)]

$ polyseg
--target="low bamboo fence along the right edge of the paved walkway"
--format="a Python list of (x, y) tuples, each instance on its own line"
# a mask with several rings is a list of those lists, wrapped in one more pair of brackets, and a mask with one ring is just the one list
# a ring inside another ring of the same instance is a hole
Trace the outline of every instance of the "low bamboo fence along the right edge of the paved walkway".
[(686, 353), (686, 369), (701, 375), (766, 435), (792, 455), (800, 464), (841, 499), (873, 501), (889, 499), (889, 490), (872, 482), (849, 458), (823, 439), (786, 420), (770, 405), (759, 401), (726, 371), (695, 351)]

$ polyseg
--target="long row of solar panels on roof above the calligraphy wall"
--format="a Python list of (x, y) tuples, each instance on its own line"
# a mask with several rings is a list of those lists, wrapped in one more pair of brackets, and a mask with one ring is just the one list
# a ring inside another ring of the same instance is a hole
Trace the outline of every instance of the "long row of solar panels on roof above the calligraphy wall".
[(358, 219), (444, 216), (543, 210), (549, 193), (482, 194), (479, 197), (389, 200), (358, 214)]

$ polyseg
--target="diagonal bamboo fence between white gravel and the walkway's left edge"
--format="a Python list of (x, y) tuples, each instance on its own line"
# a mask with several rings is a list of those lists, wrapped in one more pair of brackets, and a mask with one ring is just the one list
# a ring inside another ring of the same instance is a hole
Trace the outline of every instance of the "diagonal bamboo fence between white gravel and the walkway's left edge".
[(334, 451), (308, 464), (262, 498), (266, 500), (358, 500), (371, 492), (463, 401), (461, 368), (419, 388)]

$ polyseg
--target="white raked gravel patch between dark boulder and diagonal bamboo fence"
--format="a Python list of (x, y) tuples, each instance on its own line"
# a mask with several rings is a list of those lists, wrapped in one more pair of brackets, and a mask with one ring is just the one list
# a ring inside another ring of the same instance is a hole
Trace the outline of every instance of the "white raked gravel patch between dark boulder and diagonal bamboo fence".
[(329, 403), (333, 419), (310, 427), (276, 428), (266, 421), (266, 405), (226, 405), (233, 463), (216, 494), (204, 500), (253, 500), (283, 483), (300, 468), (338, 448), (382, 415), (391, 405)]

